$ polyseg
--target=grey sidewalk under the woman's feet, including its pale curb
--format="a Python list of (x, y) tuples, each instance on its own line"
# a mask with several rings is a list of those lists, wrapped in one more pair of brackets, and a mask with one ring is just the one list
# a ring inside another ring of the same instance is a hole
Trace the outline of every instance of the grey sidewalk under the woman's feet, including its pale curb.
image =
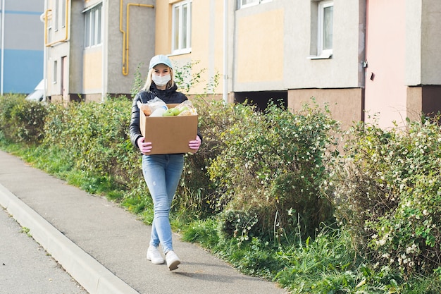
[(175, 271), (146, 259), (150, 226), (0, 151), (0, 205), (90, 294), (287, 293), (173, 236)]

